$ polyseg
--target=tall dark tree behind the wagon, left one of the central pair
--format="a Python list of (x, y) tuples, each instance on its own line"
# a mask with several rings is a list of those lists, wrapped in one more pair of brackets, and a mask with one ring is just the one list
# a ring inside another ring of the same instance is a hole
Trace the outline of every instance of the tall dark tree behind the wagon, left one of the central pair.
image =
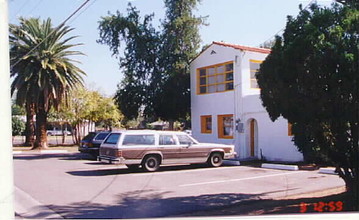
[[(143, 19), (129, 4), (127, 16), (120, 12), (103, 17), (100, 21), (100, 40), (110, 46), (113, 55), (120, 58), (124, 78), (118, 85), (116, 103), (127, 119), (138, 117), (140, 109), (151, 111), (153, 78), (159, 73), (159, 34), (153, 28), (153, 15)], [(121, 46), (124, 43), (124, 56)]]

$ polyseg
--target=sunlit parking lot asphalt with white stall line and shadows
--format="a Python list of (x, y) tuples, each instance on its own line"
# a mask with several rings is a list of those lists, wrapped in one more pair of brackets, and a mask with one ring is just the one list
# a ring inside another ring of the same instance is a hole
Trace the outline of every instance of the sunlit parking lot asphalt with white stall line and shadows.
[(64, 218), (166, 217), (344, 185), (317, 171), (182, 165), (146, 173), (81, 154), (14, 158), (16, 187)]

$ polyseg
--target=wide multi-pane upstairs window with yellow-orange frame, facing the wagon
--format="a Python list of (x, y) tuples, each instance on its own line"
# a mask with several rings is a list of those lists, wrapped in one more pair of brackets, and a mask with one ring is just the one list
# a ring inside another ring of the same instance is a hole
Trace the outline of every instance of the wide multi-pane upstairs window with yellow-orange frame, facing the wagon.
[(233, 90), (233, 62), (197, 69), (197, 94)]

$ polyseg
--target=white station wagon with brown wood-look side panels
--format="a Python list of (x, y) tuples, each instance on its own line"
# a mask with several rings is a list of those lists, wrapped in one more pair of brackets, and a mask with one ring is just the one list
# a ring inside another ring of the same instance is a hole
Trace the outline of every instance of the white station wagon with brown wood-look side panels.
[(99, 161), (125, 164), (130, 169), (156, 171), (161, 164), (222, 165), (236, 156), (233, 145), (199, 143), (184, 132), (126, 130), (111, 132), (102, 142)]

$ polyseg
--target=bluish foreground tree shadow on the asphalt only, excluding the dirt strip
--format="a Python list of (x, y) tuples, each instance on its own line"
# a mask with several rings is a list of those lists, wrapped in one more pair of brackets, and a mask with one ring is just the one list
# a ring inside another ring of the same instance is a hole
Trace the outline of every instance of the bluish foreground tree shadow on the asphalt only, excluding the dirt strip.
[[(165, 198), (169, 192), (132, 191), (117, 196), (113, 205), (93, 201), (68, 206), (52, 205), (49, 208), (64, 218), (153, 218), (211, 210), (258, 199), (250, 194), (213, 194)], [(36, 218), (37, 216), (33, 216)]]

